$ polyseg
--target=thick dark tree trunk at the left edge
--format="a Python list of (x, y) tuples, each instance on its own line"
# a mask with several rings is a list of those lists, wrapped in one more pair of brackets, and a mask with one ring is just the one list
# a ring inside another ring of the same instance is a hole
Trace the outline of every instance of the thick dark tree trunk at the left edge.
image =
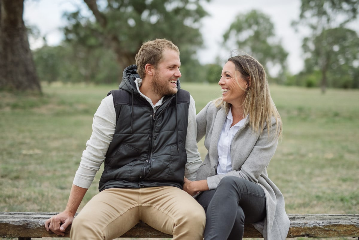
[(0, 0), (0, 90), (41, 93), (23, 9), (24, 0)]

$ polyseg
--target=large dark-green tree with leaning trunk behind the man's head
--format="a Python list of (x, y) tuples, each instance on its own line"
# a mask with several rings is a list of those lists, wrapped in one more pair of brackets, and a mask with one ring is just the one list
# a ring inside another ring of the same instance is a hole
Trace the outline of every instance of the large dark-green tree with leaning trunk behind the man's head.
[(200, 19), (207, 13), (200, 0), (84, 2), (92, 16), (80, 10), (67, 13), (69, 24), (64, 29), (67, 41), (89, 49), (111, 49), (122, 69), (135, 63), (136, 52), (147, 40), (172, 40), (180, 48), (182, 66), (193, 61), (202, 46)]

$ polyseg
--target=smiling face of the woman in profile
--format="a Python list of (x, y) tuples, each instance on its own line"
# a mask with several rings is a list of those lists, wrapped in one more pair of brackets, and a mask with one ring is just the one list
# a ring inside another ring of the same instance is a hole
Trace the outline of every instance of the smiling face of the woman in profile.
[[(232, 105), (241, 104), (246, 95), (248, 84), (244, 80), (243, 75), (236, 70), (236, 65), (228, 61), (223, 66), (221, 78), (218, 82), (222, 88), (222, 99)], [(241, 87), (242, 88), (241, 88)]]

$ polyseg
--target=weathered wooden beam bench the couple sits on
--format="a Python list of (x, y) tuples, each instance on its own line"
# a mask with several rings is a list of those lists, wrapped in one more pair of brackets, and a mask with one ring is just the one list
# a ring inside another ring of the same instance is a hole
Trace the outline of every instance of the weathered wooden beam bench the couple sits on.
[[(0, 237), (63, 237), (47, 232), (45, 221), (57, 213), (53, 212), (0, 212)], [(287, 237), (358, 237), (359, 214), (288, 214), (290, 229)], [(70, 227), (65, 237), (69, 237)], [(138, 223), (122, 237), (172, 238), (148, 226)], [(245, 238), (263, 237), (252, 225), (247, 225)]]

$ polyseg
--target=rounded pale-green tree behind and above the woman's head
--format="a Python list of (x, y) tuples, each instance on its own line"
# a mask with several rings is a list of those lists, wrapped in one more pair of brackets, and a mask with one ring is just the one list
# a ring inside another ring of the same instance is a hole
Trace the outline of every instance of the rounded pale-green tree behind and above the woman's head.
[(277, 68), (280, 77), (286, 70), (286, 52), (275, 37), (270, 17), (257, 10), (238, 14), (223, 35), (228, 48), (237, 48), (255, 57), (266, 69)]

